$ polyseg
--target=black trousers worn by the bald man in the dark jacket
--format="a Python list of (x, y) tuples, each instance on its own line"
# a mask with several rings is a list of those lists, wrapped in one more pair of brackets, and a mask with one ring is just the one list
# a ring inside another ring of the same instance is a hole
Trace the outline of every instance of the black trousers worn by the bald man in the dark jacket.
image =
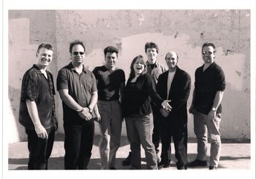
[(170, 159), (170, 143), (172, 137), (175, 148), (175, 156), (177, 159), (176, 166), (178, 169), (187, 169), (187, 122), (181, 123), (178, 120), (162, 119), (162, 162), (168, 162)]

